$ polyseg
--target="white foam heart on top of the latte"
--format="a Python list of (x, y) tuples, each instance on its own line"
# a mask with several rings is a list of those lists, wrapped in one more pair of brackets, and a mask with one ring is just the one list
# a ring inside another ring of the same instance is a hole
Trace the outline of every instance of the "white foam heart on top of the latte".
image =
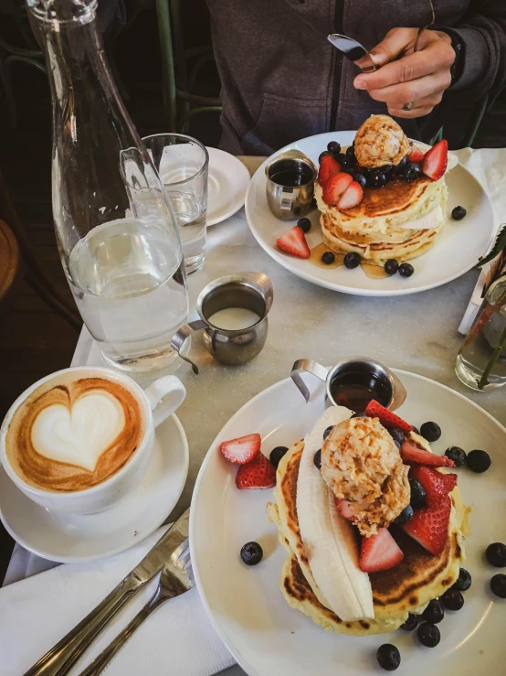
[(69, 410), (55, 403), (38, 413), (32, 427), (37, 453), (92, 472), (101, 454), (121, 434), (120, 402), (109, 392), (90, 392)]

